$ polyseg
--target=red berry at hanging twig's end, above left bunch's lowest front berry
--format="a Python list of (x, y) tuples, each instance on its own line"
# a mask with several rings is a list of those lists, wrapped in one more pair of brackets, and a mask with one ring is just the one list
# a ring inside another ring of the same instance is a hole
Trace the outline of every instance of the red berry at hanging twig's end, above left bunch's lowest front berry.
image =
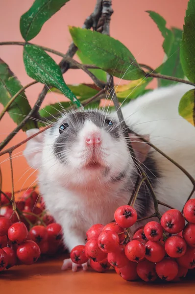
[(27, 228), (24, 222), (13, 223), (8, 230), (8, 238), (10, 241), (20, 244), (27, 238)]

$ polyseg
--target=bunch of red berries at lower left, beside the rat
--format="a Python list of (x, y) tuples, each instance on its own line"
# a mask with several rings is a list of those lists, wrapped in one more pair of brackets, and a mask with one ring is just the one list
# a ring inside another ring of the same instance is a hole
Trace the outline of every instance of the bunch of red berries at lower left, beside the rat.
[(0, 215), (0, 271), (14, 265), (31, 265), (41, 255), (53, 256), (65, 248), (62, 227), (46, 209), (43, 199), (32, 189), (16, 201), (17, 212), (12, 209), (11, 193), (1, 194)]

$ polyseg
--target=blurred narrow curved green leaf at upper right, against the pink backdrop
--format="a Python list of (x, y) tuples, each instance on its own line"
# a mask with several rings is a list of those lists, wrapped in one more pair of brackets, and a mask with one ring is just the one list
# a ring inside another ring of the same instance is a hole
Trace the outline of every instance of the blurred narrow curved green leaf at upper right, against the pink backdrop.
[(151, 10), (147, 10), (146, 12), (149, 13), (149, 16), (156, 23), (159, 30), (161, 31), (161, 34), (164, 37), (163, 49), (165, 53), (167, 54), (167, 56), (169, 56), (171, 51), (171, 46), (174, 40), (172, 31), (166, 27), (165, 19), (162, 16), (160, 16), (158, 13)]

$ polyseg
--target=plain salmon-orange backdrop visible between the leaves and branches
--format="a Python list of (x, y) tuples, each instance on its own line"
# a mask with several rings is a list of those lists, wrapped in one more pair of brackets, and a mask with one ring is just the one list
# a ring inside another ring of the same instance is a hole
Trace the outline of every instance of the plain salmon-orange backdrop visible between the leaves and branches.
[[(114, 9), (110, 29), (112, 37), (120, 40), (129, 48), (139, 63), (145, 63), (152, 68), (160, 65), (164, 58), (163, 38), (145, 11), (158, 12), (165, 18), (168, 27), (182, 28), (188, 0), (113, 0), (112, 2)], [(0, 42), (23, 41), (19, 21), (21, 15), (30, 8), (32, 3), (33, 0), (0, 0)], [(82, 26), (85, 18), (93, 11), (95, 3), (96, 0), (70, 0), (43, 25), (41, 32), (31, 42), (66, 52), (71, 42), (68, 25)], [(56, 62), (61, 60), (58, 56), (51, 56)], [(23, 85), (31, 81), (24, 70), (23, 48), (21, 46), (0, 46), (0, 58), (9, 65)], [(90, 78), (80, 70), (69, 70), (64, 78), (67, 83), (90, 82)], [(26, 96), (31, 106), (42, 88), (43, 85), (37, 84), (26, 90)], [(42, 105), (56, 102), (58, 98), (59, 96), (50, 93)], [(62, 99), (61, 96), (60, 100)], [(0, 141), (15, 126), (15, 123), (6, 114), (0, 122)], [(25, 138), (25, 133), (20, 131), (7, 147), (13, 146)], [(36, 179), (34, 170), (29, 169), (22, 156), (23, 149), (24, 146), (18, 148), (13, 155), (14, 190), (26, 188)], [(11, 189), (10, 166), (7, 158), (7, 155), (0, 158), (4, 192)]]

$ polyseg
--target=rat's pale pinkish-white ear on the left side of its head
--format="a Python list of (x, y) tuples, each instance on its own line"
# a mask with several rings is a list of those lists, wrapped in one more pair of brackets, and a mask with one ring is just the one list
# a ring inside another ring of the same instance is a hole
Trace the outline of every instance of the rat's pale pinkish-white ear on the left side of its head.
[[(30, 136), (39, 132), (38, 128), (30, 129), (26, 131), (26, 135), (29, 138)], [(43, 149), (43, 133), (33, 137), (26, 142), (26, 147), (24, 149), (24, 157), (28, 165), (33, 169), (40, 168), (41, 165), (41, 156)]]

